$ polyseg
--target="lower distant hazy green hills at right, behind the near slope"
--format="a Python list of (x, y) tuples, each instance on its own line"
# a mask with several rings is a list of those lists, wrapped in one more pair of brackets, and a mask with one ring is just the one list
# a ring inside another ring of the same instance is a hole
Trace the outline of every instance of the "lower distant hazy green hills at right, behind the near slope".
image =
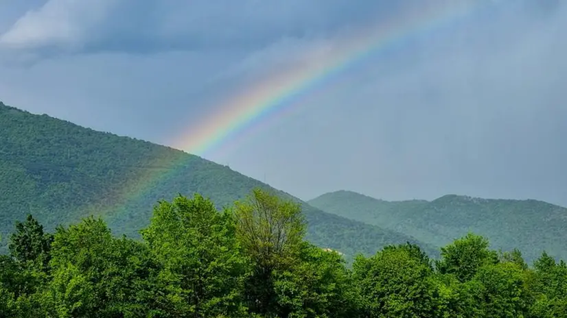
[(384, 201), (336, 191), (308, 201), (311, 206), (340, 217), (402, 232), (441, 247), (474, 232), (489, 239), (493, 248), (518, 247), (526, 260), (545, 250), (567, 258), (567, 209), (543, 201), (481, 199), (445, 195), (433, 201)]

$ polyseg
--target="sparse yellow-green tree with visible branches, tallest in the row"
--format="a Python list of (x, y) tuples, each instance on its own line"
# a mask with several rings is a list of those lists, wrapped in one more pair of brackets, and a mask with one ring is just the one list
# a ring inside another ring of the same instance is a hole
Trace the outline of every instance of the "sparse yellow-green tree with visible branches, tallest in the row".
[(236, 234), (253, 262), (246, 282), (246, 299), (254, 313), (275, 315), (274, 271), (285, 271), (299, 260), (305, 219), (301, 206), (256, 188), (233, 208)]

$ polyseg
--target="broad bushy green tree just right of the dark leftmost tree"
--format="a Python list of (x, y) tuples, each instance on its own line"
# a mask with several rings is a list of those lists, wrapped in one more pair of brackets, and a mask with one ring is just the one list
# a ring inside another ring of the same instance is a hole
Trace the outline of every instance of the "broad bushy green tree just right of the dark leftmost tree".
[(43, 302), (56, 317), (143, 317), (159, 266), (143, 243), (115, 238), (102, 219), (58, 227)]

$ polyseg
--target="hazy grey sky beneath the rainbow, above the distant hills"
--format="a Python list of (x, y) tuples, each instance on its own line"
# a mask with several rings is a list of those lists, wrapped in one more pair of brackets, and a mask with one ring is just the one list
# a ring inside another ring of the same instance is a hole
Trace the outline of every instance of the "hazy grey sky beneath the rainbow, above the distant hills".
[(347, 188), (567, 205), (567, 12), (525, 8), (419, 36), (347, 72), (226, 160), (305, 199)]

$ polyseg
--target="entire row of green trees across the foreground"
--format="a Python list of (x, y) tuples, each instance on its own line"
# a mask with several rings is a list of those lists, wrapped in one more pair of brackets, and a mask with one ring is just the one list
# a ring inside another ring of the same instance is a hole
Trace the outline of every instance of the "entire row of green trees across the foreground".
[(142, 240), (95, 217), (53, 233), (29, 215), (0, 256), (0, 317), (567, 317), (567, 265), (467, 234), (431, 259), (305, 241), (301, 206), (255, 189), (218, 211), (159, 201)]

